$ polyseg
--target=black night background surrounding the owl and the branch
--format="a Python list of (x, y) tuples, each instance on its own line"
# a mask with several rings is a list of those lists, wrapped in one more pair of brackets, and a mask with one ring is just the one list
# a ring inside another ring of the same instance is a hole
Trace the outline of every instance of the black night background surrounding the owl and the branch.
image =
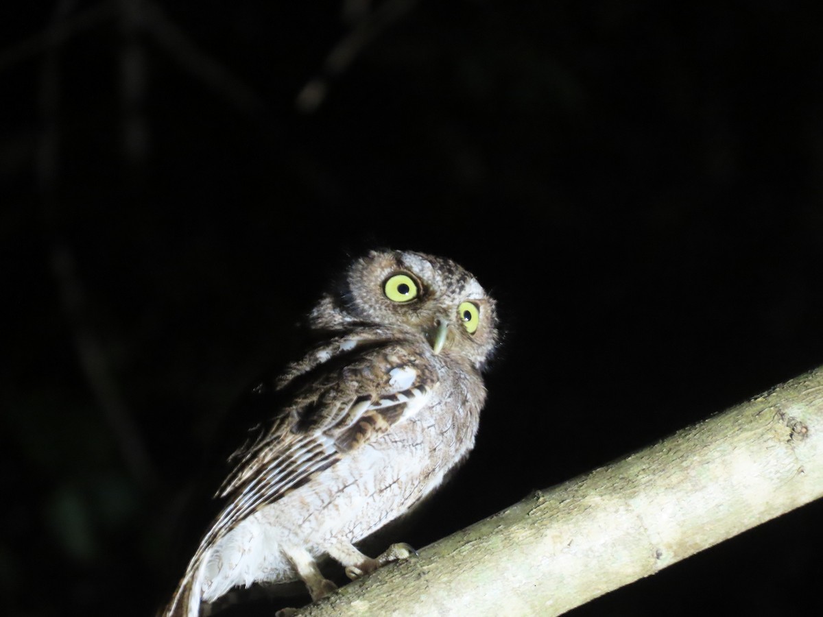
[[(507, 330), (418, 547), (823, 364), (814, 3), (153, 2), (2, 9), (4, 614), (151, 615), (232, 402), (368, 248)], [(821, 513), (572, 615), (802, 613)]]

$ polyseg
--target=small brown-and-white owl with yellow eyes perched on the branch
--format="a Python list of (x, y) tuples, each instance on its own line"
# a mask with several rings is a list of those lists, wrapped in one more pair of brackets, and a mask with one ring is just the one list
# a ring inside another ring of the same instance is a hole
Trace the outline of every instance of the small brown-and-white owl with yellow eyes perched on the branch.
[(271, 420), (230, 458), (226, 505), (164, 617), (198, 617), (233, 587), (302, 580), (336, 589), (319, 559), (359, 578), (378, 558), (357, 543), (436, 489), (474, 445), (482, 372), (498, 341), (495, 302), (441, 257), (356, 259), (309, 313), (319, 341), (272, 382)]

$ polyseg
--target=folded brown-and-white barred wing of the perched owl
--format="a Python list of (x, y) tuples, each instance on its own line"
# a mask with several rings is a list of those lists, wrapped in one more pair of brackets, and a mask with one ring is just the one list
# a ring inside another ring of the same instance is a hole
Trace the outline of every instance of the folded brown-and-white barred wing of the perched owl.
[(230, 501), (202, 545), (416, 413), (437, 383), (433, 367), (397, 343), (345, 356), (301, 375), (271, 428), (235, 452), (240, 462), (218, 491)]

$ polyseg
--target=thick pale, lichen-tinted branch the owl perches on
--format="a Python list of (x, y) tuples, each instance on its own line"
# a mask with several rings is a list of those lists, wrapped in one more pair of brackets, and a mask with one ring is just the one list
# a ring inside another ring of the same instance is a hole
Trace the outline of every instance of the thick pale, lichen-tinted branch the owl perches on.
[(560, 615), (823, 494), (823, 367), (346, 585), (300, 615)]

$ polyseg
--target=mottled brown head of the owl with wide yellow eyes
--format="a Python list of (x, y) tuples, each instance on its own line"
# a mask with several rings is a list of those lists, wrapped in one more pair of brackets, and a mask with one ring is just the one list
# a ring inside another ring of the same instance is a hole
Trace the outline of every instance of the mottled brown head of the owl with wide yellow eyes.
[(481, 369), (497, 342), (495, 301), (477, 279), (443, 257), (372, 251), (351, 263), (309, 316), (309, 326), (384, 327), (425, 338), (435, 354), (460, 356)]

